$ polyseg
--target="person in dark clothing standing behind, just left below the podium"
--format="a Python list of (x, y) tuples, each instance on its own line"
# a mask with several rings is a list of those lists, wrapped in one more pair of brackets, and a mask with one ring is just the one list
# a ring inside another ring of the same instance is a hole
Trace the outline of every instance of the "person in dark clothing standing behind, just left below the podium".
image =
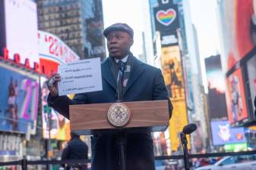
[[(71, 132), (71, 140), (68, 141), (68, 145), (62, 151), (62, 160), (67, 159), (88, 159), (88, 147), (80, 136)], [(79, 168), (80, 170), (86, 170), (87, 165), (68, 165), (66, 169)]]

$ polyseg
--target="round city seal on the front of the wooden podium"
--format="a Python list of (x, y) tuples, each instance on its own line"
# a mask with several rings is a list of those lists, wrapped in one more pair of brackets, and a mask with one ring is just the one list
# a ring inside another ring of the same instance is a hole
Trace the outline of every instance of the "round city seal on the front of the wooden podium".
[(122, 127), (128, 124), (131, 119), (131, 111), (125, 104), (116, 103), (109, 107), (108, 120), (115, 127)]

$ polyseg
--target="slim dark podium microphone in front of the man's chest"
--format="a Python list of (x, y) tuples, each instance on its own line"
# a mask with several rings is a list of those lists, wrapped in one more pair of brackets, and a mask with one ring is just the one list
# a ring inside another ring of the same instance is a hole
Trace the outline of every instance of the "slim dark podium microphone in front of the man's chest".
[(125, 63), (122, 60), (119, 60), (118, 63), (119, 73), (117, 76), (117, 100), (121, 101), (123, 97), (123, 79), (124, 79), (124, 71), (125, 71)]

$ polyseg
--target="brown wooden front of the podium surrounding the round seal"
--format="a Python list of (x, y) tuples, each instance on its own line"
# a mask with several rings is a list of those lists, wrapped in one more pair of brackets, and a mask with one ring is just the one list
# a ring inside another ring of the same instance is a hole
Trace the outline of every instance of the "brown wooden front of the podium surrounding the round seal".
[(122, 102), (131, 110), (131, 119), (124, 127), (115, 127), (107, 119), (107, 104), (79, 104), (69, 106), (71, 131), (77, 134), (109, 133), (113, 130), (165, 131), (169, 125), (167, 100)]

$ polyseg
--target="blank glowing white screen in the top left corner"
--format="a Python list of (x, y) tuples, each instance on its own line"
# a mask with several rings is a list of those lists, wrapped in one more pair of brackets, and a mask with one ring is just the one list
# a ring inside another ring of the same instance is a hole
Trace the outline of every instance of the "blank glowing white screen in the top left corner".
[[(8, 48), (10, 59), (14, 54), (20, 54), (21, 63), (25, 59), (39, 63), (37, 44), (37, 14), (36, 3), (31, 0), (4, 0), (0, 2), (0, 54), (3, 48)], [(3, 54), (2, 54), (3, 55)]]

